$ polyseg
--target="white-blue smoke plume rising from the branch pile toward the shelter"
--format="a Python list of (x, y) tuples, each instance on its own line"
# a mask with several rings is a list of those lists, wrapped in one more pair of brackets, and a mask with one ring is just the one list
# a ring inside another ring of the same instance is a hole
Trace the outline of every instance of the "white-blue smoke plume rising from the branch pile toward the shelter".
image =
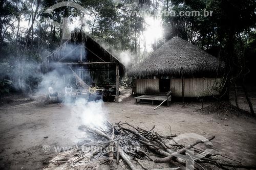
[[(74, 68), (74, 71), (76, 71), (76, 68)], [(68, 84), (73, 87), (72, 95), (67, 95), (65, 93), (65, 87)], [(74, 135), (81, 138), (90, 138), (90, 134), (79, 131), (78, 127), (81, 125), (90, 126), (103, 131), (106, 130), (107, 113), (102, 100), (89, 102), (88, 92), (77, 95), (78, 90), (80, 92), (86, 92), (88, 89), (83, 89), (81, 87), (76, 89), (76, 79), (69, 67), (57, 66), (52, 71), (48, 72), (48, 74), (42, 76), (42, 81), (38, 86), (37, 94), (47, 94), (50, 86), (53, 87), (54, 91), (59, 93), (60, 106), (65, 108), (65, 113), (63, 114), (68, 116), (66, 122), (67, 127), (70, 127), (70, 131), (73, 131)], [(78, 99), (80, 99), (79, 102), (77, 102)], [(52, 98), (52, 102), (53, 100), (55, 101), (54, 98)], [(67, 111), (70, 113), (67, 113)], [(75, 136), (70, 139), (77, 142)]]

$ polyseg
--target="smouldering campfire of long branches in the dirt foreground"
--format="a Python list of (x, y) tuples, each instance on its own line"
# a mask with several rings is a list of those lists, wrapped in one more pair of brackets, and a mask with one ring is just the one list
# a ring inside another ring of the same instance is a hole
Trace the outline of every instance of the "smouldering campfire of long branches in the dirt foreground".
[(93, 138), (84, 139), (70, 150), (62, 150), (44, 169), (255, 168), (204, 150), (211, 149), (208, 142), (215, 136), (183, 145), (176, 141), (176, 134), (160, 135), (155, 126), (142, 129), (126, 122), (112, 124), (108, 120), (106, 124), (106, 130), (80, 126), (79, 130)]

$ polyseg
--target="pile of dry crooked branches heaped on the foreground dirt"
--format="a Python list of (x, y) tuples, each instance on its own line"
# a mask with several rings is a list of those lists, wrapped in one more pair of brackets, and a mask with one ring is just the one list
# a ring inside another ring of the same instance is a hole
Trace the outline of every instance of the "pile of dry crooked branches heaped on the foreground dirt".
[[(196, 140), (186, 146), (179, 144), (175, 142), (176, 135), (170, 134), (168, 136), (162, 136), (154, 131), (155, 126), (151, 130), (145, 130), (134, 127), (128, 123), (120, 124), (119, 122), (113, 125), (109, 122), (108, 130), (100, 130), (85, 125), (80, 126), (79, 129), (91, 133), (96, 140), (100, 140), (101, 142), (96, 143), (95, 140), (90, 144), (91, 148), (86, 151), (79, 150), (79, 146), (78, 148), (76, 147), (76, 151), (80, 152), (74, 154), (75, 157), (72, 158), (72, 160), (58, 160), (59, 164), (63, 162), (66, 163), (62, 169), (69, 169), (69, 167), (74, 169), (74, 164), (79, 162), (80, 165), (84, 167), (78, 169), (88, 169), (90, 160), (96, 155), (99, 155), (98, 158), (104, 155), (106, 159), (103, 163), (105, 164), (115, 164), (116, 168), (112, 169), (120, 169), (120, 167), (118, 167), (121, 164), (120, 162), (124, 162), (132, 170), (152, 169), (146, 166), (145, 163), (142, 163), (143, 160), (152, 163), (165, 163), (165, 165), (159, 168), (165, 170), (183, 169), (185, 166), (188, 169), (217, 169), (217, 167), (220, 169), (256, 168), (255, 166), (244, 166), (241, 162), (220, 154), (206, 153), (203, 150), (196, 149), (195, 146), (197, 144), (205, 144), (205, 141), (202, 140)], [(210, 141), (214, 138), (215, 136), (211, 136), (207, 139)], [(83, 144), (85, 143), (83, 142)], [(196, 157), (196, 154), (189, 152), (190, 149), (194, 149), (197, 154), (201, 154), (203, 157)], [(182, 157), (182, 155), (184, 155), (184, 157)], [(220, 157), (223, 159), (220, 159)], [(228, 159), (229, 161), (224, 161), (224, 159)], [(230, 161), (236, 163), (230, 163)], [(162, 168), (166, 166), (166, 163), (168, 163), (167, 165), (169, 167)]]

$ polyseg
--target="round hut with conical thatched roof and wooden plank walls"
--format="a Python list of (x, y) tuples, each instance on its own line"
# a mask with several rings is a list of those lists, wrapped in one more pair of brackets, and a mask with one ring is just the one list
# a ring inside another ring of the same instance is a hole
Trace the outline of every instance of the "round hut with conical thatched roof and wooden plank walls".
[(216, 94), (220, 82), (216, 77), (222, 68), (214, 56), (174, 37), (135, 65), (128, 76), (133, 77), (138, 94), (171, 90), (173, 96), (197, 97)]

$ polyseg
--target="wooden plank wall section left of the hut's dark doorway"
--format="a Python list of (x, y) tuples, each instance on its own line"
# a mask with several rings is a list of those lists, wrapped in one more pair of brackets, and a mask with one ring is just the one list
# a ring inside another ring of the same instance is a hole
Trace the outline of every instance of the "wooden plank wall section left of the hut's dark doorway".
[(136, 93), (145, 94), (148, 89), (159, 93), (159, 79), (136, 79)]

